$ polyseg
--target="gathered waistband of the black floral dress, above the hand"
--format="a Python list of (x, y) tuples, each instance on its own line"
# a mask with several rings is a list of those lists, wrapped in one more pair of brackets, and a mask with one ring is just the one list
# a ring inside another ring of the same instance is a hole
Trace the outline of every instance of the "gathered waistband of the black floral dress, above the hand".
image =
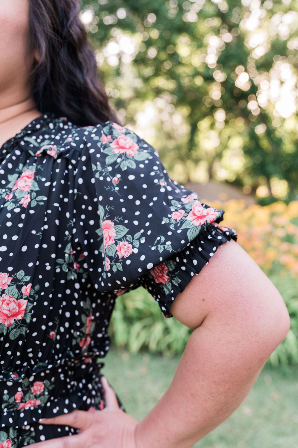
[(40, 418), (105, 406), (98, 357), (63, 359), (18, 381), (0, 381), (0, 426), (23, 426)]

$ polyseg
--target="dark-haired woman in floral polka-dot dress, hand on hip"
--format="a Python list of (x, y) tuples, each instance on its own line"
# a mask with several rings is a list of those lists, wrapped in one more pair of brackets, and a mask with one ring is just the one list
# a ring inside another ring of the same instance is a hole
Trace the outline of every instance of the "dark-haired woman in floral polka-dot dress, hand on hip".
[[(224, 211), (117, 122), (78, 12), (0, 2), (0, 447), (190, 447), (240, 405), (289, 315)], [(140, 285), (194, 331), (137, 422), (98, 359)]]

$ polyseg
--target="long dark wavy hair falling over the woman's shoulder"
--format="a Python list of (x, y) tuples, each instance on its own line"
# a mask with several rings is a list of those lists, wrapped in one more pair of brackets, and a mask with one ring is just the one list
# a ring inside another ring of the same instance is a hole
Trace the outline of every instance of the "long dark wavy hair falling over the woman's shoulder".
[(30, 0), (29, 50), (40, 58), (29, 80), (36, 106), (79, 126), (120, 124), (79, 13), (79, 0)]

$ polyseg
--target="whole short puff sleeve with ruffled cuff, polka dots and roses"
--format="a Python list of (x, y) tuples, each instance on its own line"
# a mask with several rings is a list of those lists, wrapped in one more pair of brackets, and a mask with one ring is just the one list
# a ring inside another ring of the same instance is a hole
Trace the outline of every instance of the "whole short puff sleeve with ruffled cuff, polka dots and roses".
[(75, 176), (78, 235), (95, 288), (117, 295), (143, 286), (164, 318), (192, 276), (236, 230), (224, 210), (172, 180), (158, 152), (108, 121), (84, 133)]

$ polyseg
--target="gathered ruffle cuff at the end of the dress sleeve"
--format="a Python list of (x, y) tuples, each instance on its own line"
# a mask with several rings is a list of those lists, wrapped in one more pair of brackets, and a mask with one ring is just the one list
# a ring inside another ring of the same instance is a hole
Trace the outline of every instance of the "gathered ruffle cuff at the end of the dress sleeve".
[(141, 285), (158, 302), (165, 319), (173, 317), (169, 308), (194, 275), (199, 274), (219, 246), (233, 238), (237, 241), (235, 229), (209, 223), (183, 250), (168, 260), (153, 267), (141, 278)]

